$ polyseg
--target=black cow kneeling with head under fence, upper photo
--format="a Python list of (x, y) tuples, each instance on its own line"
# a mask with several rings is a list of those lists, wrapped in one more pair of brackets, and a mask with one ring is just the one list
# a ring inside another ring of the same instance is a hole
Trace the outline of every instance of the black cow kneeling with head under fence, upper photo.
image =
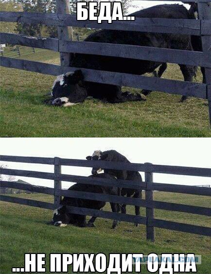
[[(182, 5), (158, 5), (134, 13), (137, 18), (178, 18), (187, 19), (188, 10)], [(139, 46), (160, 47), (169, 49), (193, 50), (188, 35), (143, 33), (136, 31), (101, 30), (92, 33), (85, 41), (117, 43)], [(70, 66), (103, 71), (120, 72), (134, 75), (152, 73), (162, 62), (100, 56), (93, 54), (74, 54)], [(179, 64), (185, 81), (192, 81), (196, 68)], [(145, 100), (145, 96), (137, 93), (122, 92), (121, 87), (111, 84), (83, 81), (81, 71), (58, 76), (53, 83), (52, 98), (48, 101), (54, 106), (71, 106), (83, 102), (88, 96), (110, 103)], [(182, 100), (185, 97), (182, 98)]]

